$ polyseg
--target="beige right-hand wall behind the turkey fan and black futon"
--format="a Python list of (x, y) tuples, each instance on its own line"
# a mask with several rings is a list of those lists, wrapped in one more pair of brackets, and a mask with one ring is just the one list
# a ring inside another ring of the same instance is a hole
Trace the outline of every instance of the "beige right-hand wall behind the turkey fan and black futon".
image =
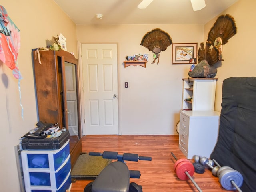
[[(230, 38), (229, 42), (223, 45), (223, 58), (220, 67), (217, 68), (216, 78), (216, 102), (215, 110), (221, 110), (222, 101), (222, 82), (228, 77), (250, 77), (256, 76), (255, 65), (255, 45), (256, 45), (256, 1), (239, 0), (233, 6), (222, 12), (234, 17), (237, 26), (237, 34)], [(208, 22), (204, 27), (204, 42), (207, 39), (208, 32), (213, 26), (217, 17)]]

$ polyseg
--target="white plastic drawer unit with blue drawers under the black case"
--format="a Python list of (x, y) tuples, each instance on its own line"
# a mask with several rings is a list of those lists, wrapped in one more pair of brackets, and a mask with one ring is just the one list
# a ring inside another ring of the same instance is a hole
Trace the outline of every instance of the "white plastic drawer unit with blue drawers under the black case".
[(69, 140), (54, 150), (22, 150), (26, 192), (65, 192), (71, 185)]

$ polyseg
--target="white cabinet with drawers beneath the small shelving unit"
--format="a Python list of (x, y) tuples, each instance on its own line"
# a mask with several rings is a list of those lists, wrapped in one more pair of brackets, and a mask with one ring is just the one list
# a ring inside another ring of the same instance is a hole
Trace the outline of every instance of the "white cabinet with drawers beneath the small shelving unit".
[(179, 148), (188, 159), (210, 157), (218, 139), (220, 113), (180, 110)]

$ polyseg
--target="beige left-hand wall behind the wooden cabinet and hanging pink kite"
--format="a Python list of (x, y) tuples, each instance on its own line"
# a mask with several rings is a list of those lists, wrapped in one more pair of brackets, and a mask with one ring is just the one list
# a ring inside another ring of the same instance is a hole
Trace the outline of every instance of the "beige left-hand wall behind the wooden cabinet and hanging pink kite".
[(0, 5), (6, 8), (21, 36), (18, 65), (23, 77), (20, 88), (24, 119), (21, 117), (18, 80), (6, 65), (0, 63), (1, 77), (4, 74), (7, 77), (0, 79), (0, 186), (2, 191), (18, 192), (14, 146), (22, 135), (36, 127), (38, 121), (31, 49), (46, 47), (46, 41), (62, 33), (67, 38), (68, 51), (77, 55), (76, 25), (52, 0), (0, 0)]

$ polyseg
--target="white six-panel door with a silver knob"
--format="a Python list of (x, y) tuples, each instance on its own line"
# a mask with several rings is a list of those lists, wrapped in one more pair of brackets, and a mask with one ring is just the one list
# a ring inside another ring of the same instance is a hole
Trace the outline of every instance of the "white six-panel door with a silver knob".
[(85, 134), (118, 134), (116, 44), (82, 44)]

